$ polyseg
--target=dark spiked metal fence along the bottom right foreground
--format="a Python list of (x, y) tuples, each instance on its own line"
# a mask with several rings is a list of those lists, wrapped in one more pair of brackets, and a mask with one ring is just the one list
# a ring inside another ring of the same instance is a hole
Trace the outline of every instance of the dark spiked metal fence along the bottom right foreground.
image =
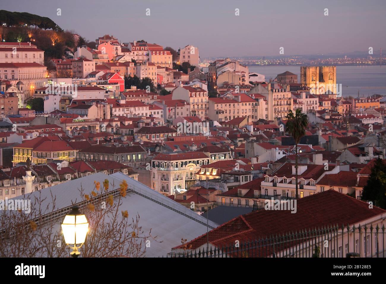
[(221, 247), (205, 242), (192, 250), (186, 243), (168, 257), (384, 257), (384, 231), (383, 223), (357, 227), (333, 225), (245, 242), (235, 240)]

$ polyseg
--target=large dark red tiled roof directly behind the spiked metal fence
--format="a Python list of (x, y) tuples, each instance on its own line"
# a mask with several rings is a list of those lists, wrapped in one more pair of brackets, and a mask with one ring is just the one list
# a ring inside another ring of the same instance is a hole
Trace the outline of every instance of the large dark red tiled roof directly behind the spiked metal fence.
[[(335, 190), (313, 194), (297, 200), (296, 214), (289, 210), (257, 210), (238, 216), (209, 232), (209, 242), (215, 247), (240, 243), (267, 236), (301, 231), (332, 224), (355, 224), (386, 211)], [(196, 249), (207, 243), (207, 234), (187, 243)], [(178, 246), (176, 248), (181, 248)]]

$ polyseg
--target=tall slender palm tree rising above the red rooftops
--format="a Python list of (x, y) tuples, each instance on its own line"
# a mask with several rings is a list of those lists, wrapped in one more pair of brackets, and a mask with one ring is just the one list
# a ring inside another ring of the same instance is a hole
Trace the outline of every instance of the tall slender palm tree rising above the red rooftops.
[(308, 117), (301, 112), (301, 109), (296, 109), (295, 115), (292, 110), (289, 110), (286, 119), (286, 133), (295, 140), (296, 199), (298, 199), (298, 144), (300, 139), (306, 134), (305, 127), (308, 126)]

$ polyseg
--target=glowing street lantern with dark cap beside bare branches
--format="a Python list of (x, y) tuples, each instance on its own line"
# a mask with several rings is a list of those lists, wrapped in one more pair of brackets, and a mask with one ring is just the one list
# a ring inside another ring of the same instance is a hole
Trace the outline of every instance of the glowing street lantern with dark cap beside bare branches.
[[(78, 249), (85, 243), (88, 233), (86, 215), (81, 213), (78, 206), (73, 206), (70, 213), (64, 217), (62, 231), (64, 241), (73, 249), (73, 251), (70, 252), (71, 257), (78, 257), (80, 255)], [(73, 245), (73, 247), (71, 245)]]

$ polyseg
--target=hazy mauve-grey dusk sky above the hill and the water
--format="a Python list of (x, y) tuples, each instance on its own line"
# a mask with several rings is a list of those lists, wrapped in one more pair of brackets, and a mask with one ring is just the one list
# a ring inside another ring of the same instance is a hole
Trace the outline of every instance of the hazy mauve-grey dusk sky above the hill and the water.
[(176, 50), (193, 44), (201, 58), (272, 56), (280, 47), (284, 55), (349, 53), (370, 46), (386, 53), (385, 0), (0, 2), (2, 10), (49, 17), (89, 41), (112, 34), (121, 42), (144, 39)]

